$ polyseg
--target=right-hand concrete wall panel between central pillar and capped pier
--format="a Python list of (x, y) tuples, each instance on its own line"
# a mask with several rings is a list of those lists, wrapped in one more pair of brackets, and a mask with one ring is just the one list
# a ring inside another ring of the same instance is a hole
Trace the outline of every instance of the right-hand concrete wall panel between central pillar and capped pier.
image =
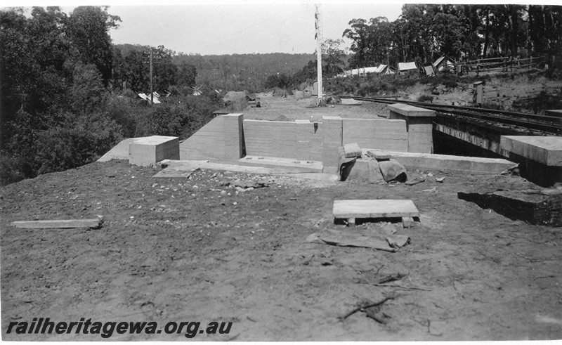
[(343, 144), (358, 143), (361, 148), (408, 150), (406, 122), (398, 119), (344, 119)]

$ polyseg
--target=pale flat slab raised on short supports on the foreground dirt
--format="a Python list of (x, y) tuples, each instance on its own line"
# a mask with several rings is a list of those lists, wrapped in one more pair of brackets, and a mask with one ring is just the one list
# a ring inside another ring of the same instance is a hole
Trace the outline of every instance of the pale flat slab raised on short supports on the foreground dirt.
[(334, 200), (334, 218), (419, 217), (412, 200)]

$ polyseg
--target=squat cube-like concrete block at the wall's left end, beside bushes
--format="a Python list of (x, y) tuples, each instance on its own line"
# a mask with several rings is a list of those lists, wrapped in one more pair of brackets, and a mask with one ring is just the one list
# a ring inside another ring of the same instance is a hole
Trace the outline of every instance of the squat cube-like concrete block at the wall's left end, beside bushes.
[(155, 166), (161, 160), (179, 160), (179, 139), (176, 136), (148, 136), (129, 144), (129, 163)]

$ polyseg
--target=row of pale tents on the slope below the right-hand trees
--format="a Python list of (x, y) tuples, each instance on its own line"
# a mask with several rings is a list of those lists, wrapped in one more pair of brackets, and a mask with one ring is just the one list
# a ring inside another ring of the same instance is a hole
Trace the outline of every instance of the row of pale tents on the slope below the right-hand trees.
[(391, 67), (390, 65), (381, 64), (377, 67), (362, 67), (362, 68), (355, 68), (353, 70), (346, 70), (343, 73), (338, 74), (338, 77), (349, 77), (352, 75), (362, 75), (365, 76), (369, 73), (376, 73), (376, 74), (403, 74), (410, 71), (418, 71), (421, 74), (425, 75), (435, 75), (438, 72), (443, 71), (450, 71), (454, 72), (456, 70), (456, 63), (455, 60), (448, 58), (447, 56), (441, 56), (435, 62), (433, 62), (429, 66), (421, 66), (419, 63), (414, 61), (410, 63), (398, 63), (395, 67)]

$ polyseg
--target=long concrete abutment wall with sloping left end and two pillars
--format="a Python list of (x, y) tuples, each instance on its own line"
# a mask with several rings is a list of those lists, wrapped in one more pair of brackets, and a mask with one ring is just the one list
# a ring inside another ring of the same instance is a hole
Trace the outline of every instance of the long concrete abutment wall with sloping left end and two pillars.
[(407, 152), (406, 122), (332, 116), (322, 122), (286, 122), (220, 115), (180, 144), (180, 159), (235, 162), (251, 155), (317, 161), (335, 169), (337, 150), (346, 143)]

